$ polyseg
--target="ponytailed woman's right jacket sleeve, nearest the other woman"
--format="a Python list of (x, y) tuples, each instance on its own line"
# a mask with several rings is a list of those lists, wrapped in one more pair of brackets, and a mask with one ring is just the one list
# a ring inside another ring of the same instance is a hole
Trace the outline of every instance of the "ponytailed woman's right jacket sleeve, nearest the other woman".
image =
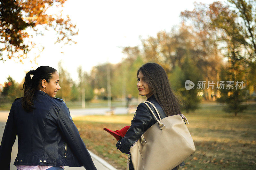
[(87, 151), (86, 146), (79, 135), (78, 129), (74, 124), (69, 109), (65, 102), (62, 103), (58, 115), (58, 126), (63, 133), (66, 142), (76, 155), (77, 159), (82, 162), (85, 169), (97, 170), (92, 162), (90, 153)]

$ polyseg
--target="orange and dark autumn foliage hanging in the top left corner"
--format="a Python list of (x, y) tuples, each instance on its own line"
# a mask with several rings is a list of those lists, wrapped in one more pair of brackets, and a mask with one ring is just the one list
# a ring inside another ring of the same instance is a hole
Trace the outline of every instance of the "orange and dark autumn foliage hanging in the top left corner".
[(78, 33), (68, 16), (46, 14), (50, 7), (60, 9), (66, 0), (0, 0), (0, 60), (26, 58), (35, 43), (33, 30), (43, 35), (43, 30), (56, 32), (56, 42), (70, 44)]

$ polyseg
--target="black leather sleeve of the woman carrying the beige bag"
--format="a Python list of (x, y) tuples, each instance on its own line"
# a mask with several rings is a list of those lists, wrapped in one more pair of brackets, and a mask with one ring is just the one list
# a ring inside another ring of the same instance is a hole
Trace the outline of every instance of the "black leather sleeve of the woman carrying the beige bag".
[(145, 104), (140, 103), (130, 128), (127, 130), (124, 138), (120, 139), (116, 145), (118, 150), (123, 153), (129, 153), (131, 146), (140, 138), (147, 128), (153, 124), (153, 118), (149, 113), (148, 107)]

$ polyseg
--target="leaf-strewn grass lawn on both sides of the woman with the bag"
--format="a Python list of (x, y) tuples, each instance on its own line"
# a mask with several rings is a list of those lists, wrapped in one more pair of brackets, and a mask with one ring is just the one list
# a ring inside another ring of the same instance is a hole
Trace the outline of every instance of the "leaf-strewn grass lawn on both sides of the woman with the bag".
[[(185, 169), (256, 169), (256, 105), (233, 114), (224, 113), (221, 106), (201, 107), (188, 118), (188, 129), (196, 153), (185, 160)], [(133, 115), (83, 116), (74, 122), (87, 148), (117, 169), (125, 169), (127, 154), (116, 150), (113, 140), (103, 128), (116, 130), (131, 124)]]

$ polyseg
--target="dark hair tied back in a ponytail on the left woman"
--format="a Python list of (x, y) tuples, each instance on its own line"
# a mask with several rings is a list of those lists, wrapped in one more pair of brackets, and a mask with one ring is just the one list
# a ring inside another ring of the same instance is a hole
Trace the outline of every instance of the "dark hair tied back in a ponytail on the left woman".
[[(39, 87), (39, 84), (42, 82), (42, 80), (50, 82), (52, 79), (52, 74), (56, 71), (57, 70), (52, 67), (41, 66), (36, 70), (30, 70), (26, 74), (25, 81), (22, 86), (22, 90), (24, 89), (24, 96), (21, 100), (21, 106), (26, 112), (31, 112), (34, 109), (34, 94), (35, 90)], [(33, 75), (32, 78), (30, 77), (31, 74)]]

